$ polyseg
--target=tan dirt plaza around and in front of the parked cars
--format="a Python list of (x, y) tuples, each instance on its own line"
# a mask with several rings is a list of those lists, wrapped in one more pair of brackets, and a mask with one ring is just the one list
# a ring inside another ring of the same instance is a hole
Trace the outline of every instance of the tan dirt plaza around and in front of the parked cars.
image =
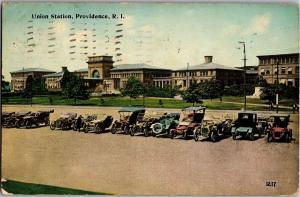
[[(3, 111), (54, 109), (106, 113), (119, 108), (3, 106)], [(154, 109), (151, 109), (154, 110)], [(156, 109), (162, 111), (180, 111)], [(207, 115), (236, 117), (236, 111)], [(261, 114), (261, 113), (260, 113)], [(266, 112), (263, 114), (267, 115)], [(51, 131), (2, 130), (2, 176), (31, 183), (122, 195), (286, 195), (298, 191), (299, 115), (291, 143), (226, 138), (219, 142)], [(276, 182), (275, 187), (266, 182)]]

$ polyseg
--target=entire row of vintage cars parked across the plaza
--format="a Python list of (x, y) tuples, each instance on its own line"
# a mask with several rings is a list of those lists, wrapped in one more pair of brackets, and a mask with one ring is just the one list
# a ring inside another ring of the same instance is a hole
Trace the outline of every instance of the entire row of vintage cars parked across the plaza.
[(26, 127), (50, 125), (51, 130), (83, 131), (102, 133), (110, 130), (112, 134), (123, 133), (134, 136), (167, 136), (171, 139), (182, 136), (184, 139), (208, 139), (213, 142), (232, 136), (233, 140), (247, 138), (254, 140), (266, 135), (267, 142), (285, 140), (290, 142), (292, 130), (288, 128), (289, 115), (276, 114), (258, 117), (257, 113), (242, 111), (238, 118), (222, 119), (205, 115), (205, 107), (187, 107), (181, 113), (163, 113), (145, 115), (144, 108), (125, 107), (119, 110), (119, 120), (112, 116), (92, 114), (77, 116), (76, 113), (63, 113), (59, 118), (49, 121), (50, 111), (2, 113), (3, 127)]

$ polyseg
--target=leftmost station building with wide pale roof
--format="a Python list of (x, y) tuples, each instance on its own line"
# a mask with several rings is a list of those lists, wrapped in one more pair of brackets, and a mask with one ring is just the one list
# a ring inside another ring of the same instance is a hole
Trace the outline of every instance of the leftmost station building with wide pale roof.
[(19, 92), (25, 89), (26, 81), (29, 76), (35, 78), (41, 78), (44, 75), (55, 73), (55, 71), (44, 68), (24, 68), (11, 72), (11, 90), (13, 92)]

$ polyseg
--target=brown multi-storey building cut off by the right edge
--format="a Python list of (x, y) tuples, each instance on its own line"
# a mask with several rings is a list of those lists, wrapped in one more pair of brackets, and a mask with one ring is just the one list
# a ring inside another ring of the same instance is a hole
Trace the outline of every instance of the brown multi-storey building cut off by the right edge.
[[(299, 86), (299, 53), (259, 55), (259, 75), (266, 79), (267, 83)], [(277, 71), (278, 63), (278, 71)]]

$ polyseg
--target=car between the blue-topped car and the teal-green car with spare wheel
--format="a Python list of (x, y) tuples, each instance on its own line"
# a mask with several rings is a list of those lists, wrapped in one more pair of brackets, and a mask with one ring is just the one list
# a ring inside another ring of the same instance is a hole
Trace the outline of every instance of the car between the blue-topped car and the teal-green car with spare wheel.
[[(143, 116), (143, 114), (140, 114)], [(136, 133), (142, 133), (148, 137), (152, 133), (151, 125), (157, 123), (162, 114), (159, 113), (146, 113), (143, 117), (138, 117), (136, 124), (130, 127), (130, 135), (134, 136)]]

